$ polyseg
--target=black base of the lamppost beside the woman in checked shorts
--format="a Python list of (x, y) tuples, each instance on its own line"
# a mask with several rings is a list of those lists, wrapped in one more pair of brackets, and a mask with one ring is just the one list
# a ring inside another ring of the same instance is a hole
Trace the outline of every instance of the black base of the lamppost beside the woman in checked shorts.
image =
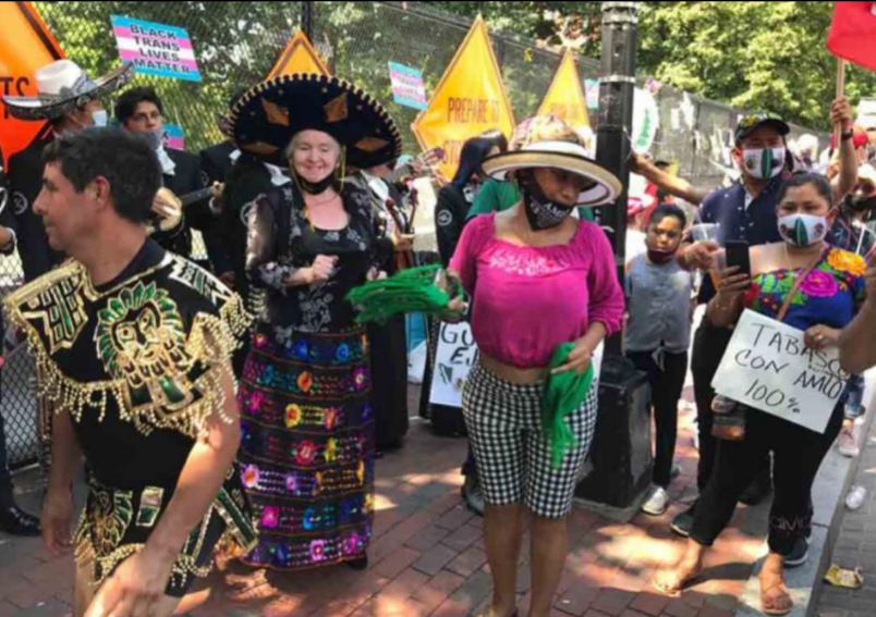
[(579, 483), (579, 498), (626, 509), (650, 486), (650, 386), (647, 375), (623, 358), (603, 366), (589, 460), (593, 470)]

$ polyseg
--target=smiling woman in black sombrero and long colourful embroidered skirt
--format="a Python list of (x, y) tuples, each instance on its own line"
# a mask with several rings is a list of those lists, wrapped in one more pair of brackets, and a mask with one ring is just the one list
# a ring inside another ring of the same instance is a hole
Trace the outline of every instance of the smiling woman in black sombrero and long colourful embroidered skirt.
[(362, 568), (374, 418), (368, 342), (344, 298), (378, 275), (380, 259), (370, 196), (340, 178), (346, 163), (398, 157), (401, 138), (368, 95), (317, 75), (259, 84), (231, 121), (242, 151), (288, 165), (293, 178), (250, 207), (246, 269), (267, 299), (239, 395), (243, 482), (259, 523), (244, 562)]

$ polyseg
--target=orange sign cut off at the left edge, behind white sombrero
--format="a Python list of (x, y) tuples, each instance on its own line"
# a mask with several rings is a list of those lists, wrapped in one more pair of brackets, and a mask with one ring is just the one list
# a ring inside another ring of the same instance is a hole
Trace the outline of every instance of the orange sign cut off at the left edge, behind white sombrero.
[(37, 69), (64, 58), (61, 47), (31, 2), (0, 2), (0, 166), (24, 150), (48, 125), (12, 118), (3, 96), (36, 96)]

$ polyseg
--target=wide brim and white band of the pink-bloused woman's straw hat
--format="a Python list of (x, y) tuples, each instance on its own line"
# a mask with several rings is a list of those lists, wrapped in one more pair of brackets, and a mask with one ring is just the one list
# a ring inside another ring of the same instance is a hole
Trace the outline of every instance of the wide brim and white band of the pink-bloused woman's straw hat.
[(484, 161), (484, 172), (498, 181), (508, 181), (512, 172), (531, 169), (558, 169), (587, 180), (589, 184), (579, 195), (577, 206), (611, 203), (622, 189), (611, 172), (596, 164), (583, 146), (572, 141), (538, 141)]

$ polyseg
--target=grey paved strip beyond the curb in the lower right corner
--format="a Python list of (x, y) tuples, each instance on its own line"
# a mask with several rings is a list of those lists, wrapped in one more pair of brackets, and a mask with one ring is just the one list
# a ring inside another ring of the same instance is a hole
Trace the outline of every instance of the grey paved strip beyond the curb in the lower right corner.
[(819, 617), (873, 617), (876, 615), (876, 422), (861, 448), (854, 484), (867, 490), (867, 503), (856, 513), (845, 511), (831, 559), (842, 568), (861, 568), (864, 589), (850, 591), (824, 584), (816, 615)]

